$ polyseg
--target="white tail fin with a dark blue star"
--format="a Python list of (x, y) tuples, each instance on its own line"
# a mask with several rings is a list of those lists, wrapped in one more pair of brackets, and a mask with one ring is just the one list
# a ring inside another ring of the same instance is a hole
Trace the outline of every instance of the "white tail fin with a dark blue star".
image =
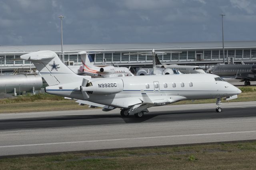
[(20, 56), (21, 59), (31, 61), (48, 85), (70, 83), (81, 79), (69, 69), (53, 51), (36, 51)]

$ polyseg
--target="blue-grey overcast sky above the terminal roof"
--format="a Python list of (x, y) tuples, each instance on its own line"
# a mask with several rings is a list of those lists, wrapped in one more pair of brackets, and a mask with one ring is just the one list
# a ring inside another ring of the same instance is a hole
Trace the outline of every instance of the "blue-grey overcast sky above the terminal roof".
[(255, 0), (0, 0), (0, 45), (256, 40)]

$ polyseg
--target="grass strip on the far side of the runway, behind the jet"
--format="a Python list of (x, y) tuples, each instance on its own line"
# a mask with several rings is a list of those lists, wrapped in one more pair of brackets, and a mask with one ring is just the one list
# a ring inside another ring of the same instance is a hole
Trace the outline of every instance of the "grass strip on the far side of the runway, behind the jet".
[[(239, 101), (256, 101), (256, 86), (239, 87), (243, 92), (238, 95), (238, 99), (233, 99), (225, 102)], [(200, 104), (200, 103), (215, 103), (216, 99), (202, 100), (186, 100), (173, 103), (172, 105), (184, 104)], [(0, 113), (17, 113), (17, 112), (33, 112), (33, 111), (61, 111), (61, 110), (81, 110), (91, 109), (88, 106), (79, 106), (75, 100), (64, 99), (64, 97), (38, 94), (18, 96), (16, 99), (1, 99)]]

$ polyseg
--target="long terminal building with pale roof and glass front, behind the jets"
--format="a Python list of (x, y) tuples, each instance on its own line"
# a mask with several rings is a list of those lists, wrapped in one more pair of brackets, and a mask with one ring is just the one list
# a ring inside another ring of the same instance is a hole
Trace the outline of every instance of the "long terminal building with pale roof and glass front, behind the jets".
[[(256, 61), (256, 41), (224, 42), (225, 62), (240, 63)], [(29, 61), (20, 60), (20, 55), (39, 50), (56, 52), (66, 65), (82, 64), (80, 51), (94, 51), (95, 65), (123, 65), (145, 67), (152, 65), (152, 55), (129, 54), (144, 51), (166, 51), (158, 56), (165, 64), (213, 65), (223, 62), (222, 42), (179, 42), (179, 43), (124, 43), (124, 44), (77, 44), (63, 45), (24, 45), (0, 46), (1, 70), (3, 73), (15, 72), (18, 69), (31, 70), (34, 65)], [(169, 53), (168, 53), (169, 51)], [(171, 51), (179, 51), (172, 53)]]

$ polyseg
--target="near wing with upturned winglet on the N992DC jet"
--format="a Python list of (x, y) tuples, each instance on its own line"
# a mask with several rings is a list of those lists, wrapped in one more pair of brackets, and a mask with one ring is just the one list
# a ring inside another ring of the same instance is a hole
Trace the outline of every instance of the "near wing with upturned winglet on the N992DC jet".
[(138, 103), (136, 105), (133, 105), (128, 112), (129, 113), (138, 113), (140, 111), (148, 112), (148, 108), (153, 106), (162, 106), (162, 105), (168, 105), (170, 103), (175, 103), (177, 101), (181, 101), (186, 99), (186, 97), (182, 96), (159, 96), (156, 97), (149, 97), (147, 93), (144, 92), (144, 90), (141, 90), (142, 95), (142, 103)]

